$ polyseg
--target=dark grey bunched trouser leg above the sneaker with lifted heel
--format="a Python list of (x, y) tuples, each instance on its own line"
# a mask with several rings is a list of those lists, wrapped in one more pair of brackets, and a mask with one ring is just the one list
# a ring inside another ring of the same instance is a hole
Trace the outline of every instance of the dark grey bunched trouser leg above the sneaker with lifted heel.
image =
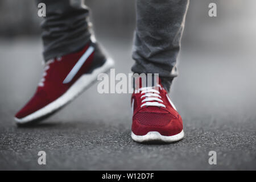
[(36, 0), (46, 4), (41, 25), (45, 60), (76, 52), (90, 40), (89, 10), (82, 0)]

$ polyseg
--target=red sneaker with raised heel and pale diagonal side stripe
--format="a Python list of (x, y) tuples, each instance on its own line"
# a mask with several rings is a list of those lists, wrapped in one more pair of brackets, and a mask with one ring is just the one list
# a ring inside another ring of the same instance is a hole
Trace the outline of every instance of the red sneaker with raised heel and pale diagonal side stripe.
[(102, 55), (97, 44), (47, 61), (43, 78), (30, 101), (15, 115), (17, 123), (38, 121), (59, 110), (112, 68), (112, 59)]

